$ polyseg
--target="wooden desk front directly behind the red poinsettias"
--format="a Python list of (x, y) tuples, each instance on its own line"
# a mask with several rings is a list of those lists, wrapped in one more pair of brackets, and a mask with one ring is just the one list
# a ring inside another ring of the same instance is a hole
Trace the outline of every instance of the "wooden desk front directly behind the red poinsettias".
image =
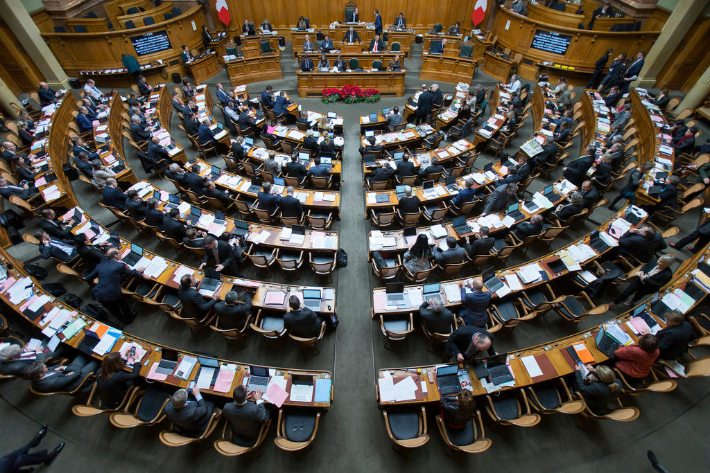
[[(298, 95), (320, 96), (323, 89), (356, 85), (362, 89), (377, 89), (382, 96), (404, 95), (406, 71), (386, 72), (297, 72)], [(263, 79), (261, 79), (263, 80)]]

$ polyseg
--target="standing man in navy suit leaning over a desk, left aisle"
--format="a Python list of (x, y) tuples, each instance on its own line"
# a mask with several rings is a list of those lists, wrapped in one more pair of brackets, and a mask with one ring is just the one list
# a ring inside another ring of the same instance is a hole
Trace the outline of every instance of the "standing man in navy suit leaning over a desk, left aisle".
[(128, 324), (136, 318), (136, 312), (131, 312), (128, 302), (121, 293), (121, 282), (127, 277), (143, 277), (143, 269), (129, 269), (126, 263), (121, 261), (121, 252), (116, 248), (110, 248), (106, 252), (106, 259), (97, 265), (87, 277), (87, 282), (93, 282), (97, 277), (99, 281), (91, 290), (91, 296), (99, 301), (102, 306), (121, 323)]

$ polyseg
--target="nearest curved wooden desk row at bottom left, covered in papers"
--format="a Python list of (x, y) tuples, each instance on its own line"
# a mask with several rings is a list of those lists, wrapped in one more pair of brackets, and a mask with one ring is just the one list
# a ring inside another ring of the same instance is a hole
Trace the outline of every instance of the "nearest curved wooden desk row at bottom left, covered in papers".
[[(125, 333), (116, 328), (111, 328), (109, 327), (109, 325), (96, 321), (84, 313), (77, 312), (71, 306), (67, 306), (62, 301), (60, 301), (60, 299), (55, 299), (55, 297), (48, 294), (48, 292), (45, 291), (38, 282), (36, 282), (32, 277), (28, 276), (28, 274), (23, 269), (21, 269), (21, 262), (15, 260), (4, 250), (0, 252), (0, 263), (3, 265), (12, 265), (13, 267), (13, 269), (8, 270), (9, 274), (7, 279), (5, 279), (4, 282), (0, 282), (0, 299), (4, 301), (4, 303), (9, 307), (11, 311), (15, 312), (13, 314), (14, 316), (16, 316), (17, 318), (23, 318), (24, 320), (34, 325), (38, 330), (42, 330), (45, 334), (51, 334), (48, 336), (57, 337), (60, 343), (64, 343), (74, 348), (78, 347), (86, 336), (82, 328), (86, 328), (87, 330), (97, 332), (97, 334), (101, 333), (102, 335), (99, 335), (99, 338), (103, 338), (104, 336), (116, 338), (116, 341), (107, 349), (106, 352), (102, 352), (100, 354), (99, 352), (92, 352), (92, 357), (95, 357), (99, 360), (102, 360), (104, 356), (109, 352), (120, 352), (121, 355), (126, 355), (126, 353), (131, 350), (131, 346), (136, 346), (137, 353), (142, 353), (143, 350), (145, 350), (145, 354), (140, 358), (140, 360), (136, 360), (136, 362), (141, 363), (141, 377), (148, 377), (148, 374), (154, 369), (154, 365), (160, 362), (162, 350), (166, 348), (178, 351), (180, 361), (186, 356), (195, 358), (205, 357), (204, 354), (187, 352), (184, 350), (180, 350), (177, 347), (168, 347), (166, 345), (160, 345), (158, 343), (153, 343), (149, 340), (138, 338), (134, 335)], [(29, 284), (32, 287), (32, 293), (28, 294), (28, 296), (26, 297), (23, 297), (24, 295), (12, 297), (13, 294), (11, 294), (11, 292), (14, 284)], [(42, 299), (40, 300), (40, 298)], [(28, 306), (31, 306), (31, 304), (39, 304), (41, 303), (41, 301), (46, 302), (45, 304), (43, 304), (43, 306), (40, 306), (41, 313), (39, 316), (31, 318), (30, 316), (27, 316), (24, 313), (25, 309)], [(53, 323), (53, 319), (55, 317), (61, 317), (62, 320), (63, 318), (67, 317), (65, 323), (62, 323), (62, 325), (60, 325), (59, 330), (50, 327), (50, 324)], [(209, 356), (207, 357), (211, 358)], [(231, 383), (229, 384), (229, 386), (222, 386), (219, 390), (217, 390), (217, 386), (215, 384), (210, 384), (209, 388), (202, 389), (202, 393), (220, 396), (226, 401), (231, 401), (232, 391), (236, 388), (236, 386), (243, 384), (244, 377), (246, 376), (246, 372), (248, 371), (248, 366), (253, 364), (250, 363), (249, 365), (245, 365), (239, 362), (233, 362), (224, 359), (219, 359), (218, 362), (221, 370), (229, 369), (230, 371), (234, 371)], [(274, 371), (274, 377), (283, 377), (286, 379), (286, 391), (290, 391), (291, 377), (293, 374), (309, 374), (315, 377), (316, 379), (332, 380), (332, 374), (327, 371), (306, 371), (278, 367), (272, 367), (270, 368), (270, 371), (271, 369), (273, 369)], [(126, 370), (128, 371), (129, 367), (126, 367)], [(167, 386), (171, 386), (173, 388), (187, 388), (190, 381), (197, 379), (197, 374), (199, 372), (200, 364), (197, 363), (192, 369), (192, 371), (190, 373), (185, 374), (183, 378), (168, 375), (168, 377), (163, 381), (160, 381), (160, 383)], [(303, 403), (286, 399), (284, 404), (288, 406), (328, 408), (332, 399), (333, 389), (331, 385), (330, 396), (327, 401), (315, 402), (314, 399), (314, 401), (310, 403)]]

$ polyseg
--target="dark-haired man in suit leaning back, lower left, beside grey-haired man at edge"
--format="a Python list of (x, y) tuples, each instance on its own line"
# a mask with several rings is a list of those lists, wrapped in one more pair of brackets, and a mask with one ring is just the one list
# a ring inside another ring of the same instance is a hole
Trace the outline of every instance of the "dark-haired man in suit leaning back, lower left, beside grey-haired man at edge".
[(70, 365), (53, 366), (51, 369), (44, 362), (35, 360), (25, 369), (22, 376), (32, 382), (32, 389), (35, 391), (74, 391), (83, 385), (79, 392), (85, 393), (92, 388), (92, 384), (86, 382), (87, 378), (98, 368), (98, 360), (79, 354)]

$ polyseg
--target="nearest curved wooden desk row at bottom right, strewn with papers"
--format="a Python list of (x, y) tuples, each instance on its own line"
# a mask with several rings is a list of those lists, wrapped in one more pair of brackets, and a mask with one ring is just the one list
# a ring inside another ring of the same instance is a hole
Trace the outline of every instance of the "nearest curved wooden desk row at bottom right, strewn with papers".
[[(672, 280), (669, 284), (665, 286), (665, 289), (660, 291), (660, 298), (662, 299), (665, 294), (680, 289), (683, 291), (689, 285), (696, 286), (700, 289), (700, 295), (697, 299), (692, 299), (693, 304), (689, 307), (688, 311), (692, 310), (702, 304), (702, 301), (707, 296), (707, 292), (699, 284), (695, 283), (696, 277), (692, 274), (694, 267), (697, 266), (700, 260), (706, 260), (708, 257), (708, 249), (706, 248), (704, 252), (695, 255), (690, 260), (684, 262), (684, 264), (678, 269), (677, 277)], [(706, 280), (706, 278), (705, 278)], [(642, 308), (643, 307), (643, 308)], [(568, 374), (574, 373), (576, 362), (572, 359), (572, 356), (567, 351), (568, 347), (572, 345), (577, 345), (582, 343), (589, 350), (590, 355), (594, 358), (593, 364), (605, 362), (608, 357), (599, 350), (596, 346), (595, 338), (596, 335), (601, 330), (602, 325), (606, 323), (616, 323), (618, 328), (621, 328), (633, 341), (633, 343), (638, 343), (638, 338), (642, 335), (640, 330), (635, 328), (634, 325), (630, 323), (630, 318), (634, 313), (638, 311), (645, 310), (650, 314), (651, 318), (657, 323), (655, 329), (664, 328), (666, 326), (665, 318), (663, 318), (663, 310), (655, 310), (651, 304), (644, 302), (639, 306), (631, 309), (630, 311), (623, 313), (619, 316), (611, 318), (609, 321), (597, 325), (596, 327), (584, 330), (584, 332), (575, 333), (574, 335), (569, 335), (564, 338), (559, 338), (558, 340), (552, 340), (550, 342), (545, 342), (540, 345), (533, 347), (524, 348), (522, 350), (515, 350), (513, 352), (508, 352), (508, 366), (511, 374), (513, 374), (514, 382), (510, 385), (493, 385), (486, 382), (484, 385), (474, 372), (474, 367), (470, 364), (463, 366), (466, 369), (471, 379), (471, 392), (474, 396), (484, 396), (486, 394), (491, 394), (498, 390), (508, 390), (508, 389), (520, 389), (526, 386), (532, 386), (538, 383), (547, 382), (550, 379), (556, 379), (559, 377), (567, 376)], [(687, 312), (688, 312), (687, 311)], [(531, 360), (529, 357), (533, 357)], [(523, 361), (524, 360), (524, 361)], [(539, 373), (535, 371), (531, 375), (528, 369), (525, 367), (525, 363), (532, 365), (533, 367), (537, 365), (539, 368)], [(459, 365), (460, 367), (461, 365)], [(382, 405), (406, 405), (406, 404), (422, 404), (429, 402), (440, 401), (441, 396), (439, 395), (439, 389), (436, 382), (436, 366), (420, 366), (420, 367), (403, 367), (403, 368), (389, 368), (380, 369), (378, 371), (378, 386), (376, 386), (377, 400)], [(381, 396), (380, 384), (383, 386), (388, 386), (389, 380), (383, 381), (383, 379), (392, 378), (394, 383), (401, 382), (406, 377), (411, 377), (416, 385), (416, 391), (414, 392), (415, 399), (392, 399), (392, 392), (388, 389), (384, 396)], [(422, 386), (425, 386), (426, 392), (422, 391)]]

